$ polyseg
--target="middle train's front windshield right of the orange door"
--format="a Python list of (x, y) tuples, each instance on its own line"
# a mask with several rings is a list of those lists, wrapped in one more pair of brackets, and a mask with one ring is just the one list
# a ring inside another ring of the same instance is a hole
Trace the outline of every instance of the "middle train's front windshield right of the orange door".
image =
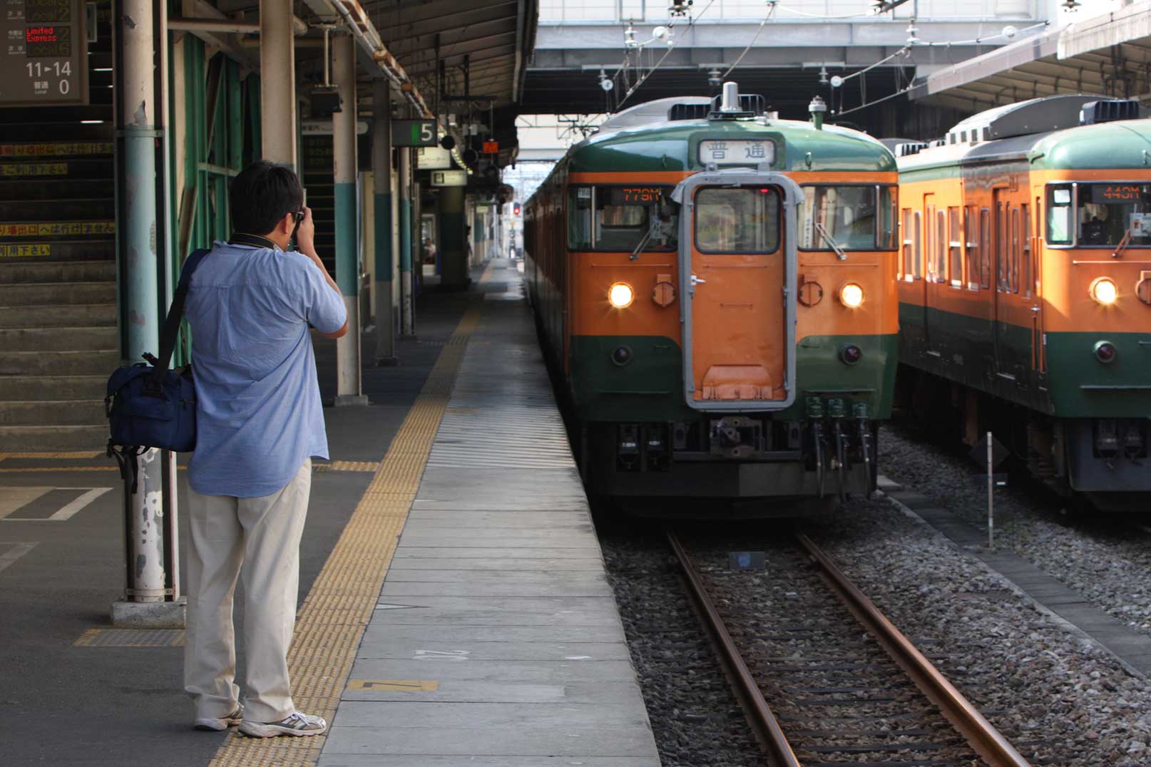
[(895, 191), (870, 184), (813, 184), (800, 202), (799, 246), (831, 251), (890, 251), (895, 247)]

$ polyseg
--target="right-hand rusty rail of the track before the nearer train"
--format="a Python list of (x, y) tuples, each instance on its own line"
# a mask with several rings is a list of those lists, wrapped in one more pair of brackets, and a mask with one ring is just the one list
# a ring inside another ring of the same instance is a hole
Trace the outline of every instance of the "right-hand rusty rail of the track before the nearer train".
[(887, 654), (907, 672), (923, 695), (939, 707), (943, 715), (990, 767), (1030, 767), (1027, 759), (1007, 742), (1007, 738), (931, 665), (923, 653), (916, 650), (912, 641), (904, 636), (862, 591), (847, 580), (831, 558), (807, 536), (798, 532), (795, 538), (821, 568), (824, 580), (847, 608), (863, 623)]

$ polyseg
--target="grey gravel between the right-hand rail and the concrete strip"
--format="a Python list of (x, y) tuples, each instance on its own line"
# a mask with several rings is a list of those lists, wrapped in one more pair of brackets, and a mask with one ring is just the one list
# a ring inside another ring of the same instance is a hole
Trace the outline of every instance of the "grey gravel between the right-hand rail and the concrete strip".
[(1032, 761), (1151, 765), (1151, 689), (889, 501), (808, 529), (860, 589)]

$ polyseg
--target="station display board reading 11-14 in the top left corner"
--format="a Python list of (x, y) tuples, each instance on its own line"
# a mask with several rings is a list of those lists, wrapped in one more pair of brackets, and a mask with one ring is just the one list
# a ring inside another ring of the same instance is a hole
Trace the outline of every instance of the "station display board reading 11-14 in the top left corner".
[(85, 0), (0, 0), (0, 105), (87, 103)]

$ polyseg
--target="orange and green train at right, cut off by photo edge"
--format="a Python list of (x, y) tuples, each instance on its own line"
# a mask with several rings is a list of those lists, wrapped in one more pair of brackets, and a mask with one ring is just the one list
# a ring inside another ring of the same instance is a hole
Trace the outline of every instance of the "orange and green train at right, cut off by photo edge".
[(1102, 508), (1144, 507), (1151, 491), (1151, 121), (1138, 117), (1136, 101), (1058, 95), (895, 147), (901, 396), (969, 444), (993, 431)]

